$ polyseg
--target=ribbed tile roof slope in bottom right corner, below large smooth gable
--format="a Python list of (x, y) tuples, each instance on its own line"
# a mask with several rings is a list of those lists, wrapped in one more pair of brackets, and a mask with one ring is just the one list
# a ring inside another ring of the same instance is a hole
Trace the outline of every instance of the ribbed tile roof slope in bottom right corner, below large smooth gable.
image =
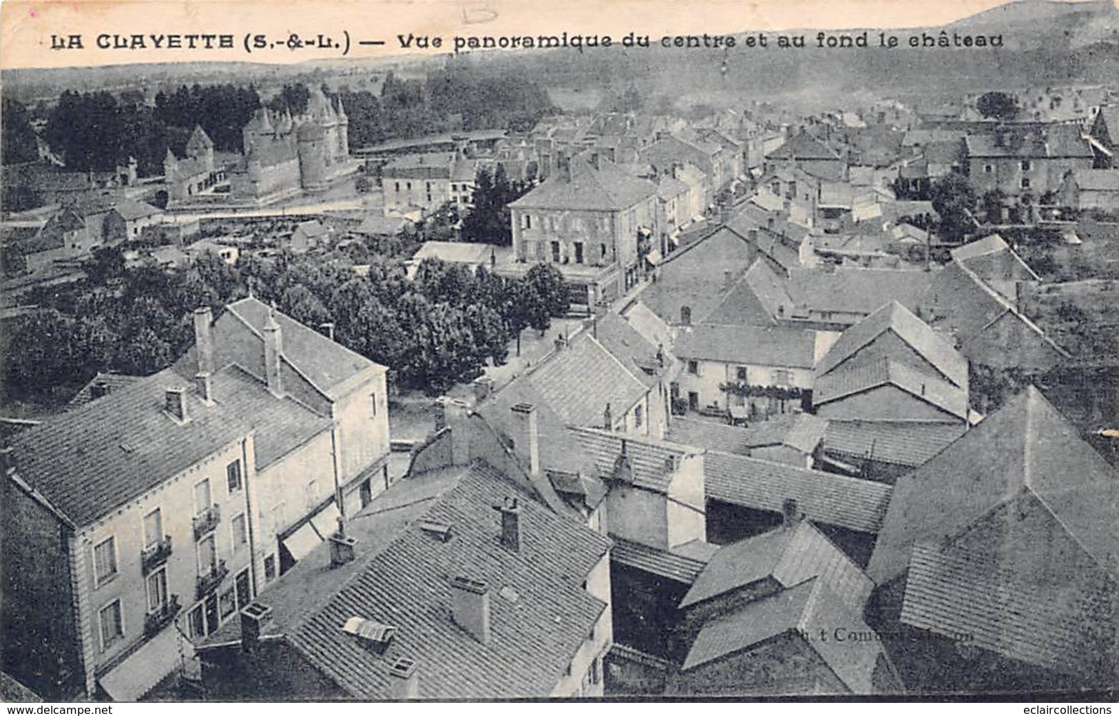
[(1102, 684), (1113, 684), (1107, 653), (1115, 646), (1111, 605), (1106, 597), (1093, 604), (1090, 595), (1070, 595), (1068, 586), (1023, 580), (988, 555), (957, 545), (919, 543), (910, 557), (901, 620), (1079, 679), (1110, 673)]

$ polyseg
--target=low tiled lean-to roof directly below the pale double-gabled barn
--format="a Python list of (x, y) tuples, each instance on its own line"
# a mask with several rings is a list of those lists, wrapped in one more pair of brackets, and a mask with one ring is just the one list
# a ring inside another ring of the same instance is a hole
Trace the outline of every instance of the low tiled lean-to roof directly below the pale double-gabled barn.
[(961, 423), (828, 421), (824, 450), (916, 468), (965, 432)]

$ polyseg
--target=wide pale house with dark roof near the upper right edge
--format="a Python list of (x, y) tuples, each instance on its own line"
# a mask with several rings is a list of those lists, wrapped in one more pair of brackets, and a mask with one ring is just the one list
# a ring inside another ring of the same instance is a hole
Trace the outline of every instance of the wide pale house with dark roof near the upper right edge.
[(963, 139), (965, 170), (976, 192), (1041, 197), (1070, 170), (1091, 169), (1092, 149), (1078, 124), (1007, 126)]

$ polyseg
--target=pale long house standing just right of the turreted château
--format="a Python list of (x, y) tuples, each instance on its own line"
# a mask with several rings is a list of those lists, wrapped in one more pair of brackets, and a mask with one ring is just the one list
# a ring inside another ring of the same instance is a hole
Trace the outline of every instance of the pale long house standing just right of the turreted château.
[(471, 206), (476, 175), (477, 162), (461, 149), (399, 157), (382, 170), (384, 210), (406, 214), (410, 207), (420, 207), (427, 215), (451, 204), (464, 211)]

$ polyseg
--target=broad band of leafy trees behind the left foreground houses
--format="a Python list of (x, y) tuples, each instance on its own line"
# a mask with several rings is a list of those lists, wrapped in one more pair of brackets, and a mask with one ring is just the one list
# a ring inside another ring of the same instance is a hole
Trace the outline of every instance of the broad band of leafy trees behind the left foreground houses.
[[(424, 261), (413, 281), (399, 261), (372, 256), (368, 275), (347, 262), (282, 254), (246, 255), (234, 265), (204, 254), (187, 268), (125, 268), (120, 251), (98, 249), (85, 283), (35, 296), (46, 310), (18, 321), (4, 366), (6, 395), (41, 399), (74, 389), (98, 370), (148, 375), (190, 345), (191, 311), (220, 310), (255, 295), (300, 322), (335, 323), (348, 348), (386, 365), (402, 387), (431, 394), (471, 380), (487, 361), (504, 362), (514, 335), (547, 328), (567, 309), (567, 289), (554, 267), (534, 267), (520, 282), (485, 268)], [(542, 328), (543, 327), (543, 328)]]

